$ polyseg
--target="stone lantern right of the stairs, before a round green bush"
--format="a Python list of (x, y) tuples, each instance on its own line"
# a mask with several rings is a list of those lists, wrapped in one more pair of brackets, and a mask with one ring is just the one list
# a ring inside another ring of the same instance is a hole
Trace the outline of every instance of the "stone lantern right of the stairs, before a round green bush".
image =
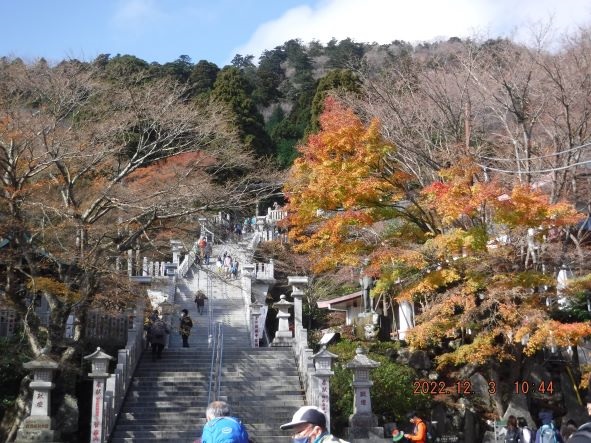
[(349, 416), (349, 438), (370, 438), (370, 434), (377, 434), (383, 440), (383, 429), (377, 428), (378, 420), (371, 411), (371, 397), (369, 388), (373, 382), (369, 378), (369, 370), (377, 368), (380, 364), (370, 360), (365, 351), (357, 348), (356, 355), (345, 366), (353, 371), (353, 414)]

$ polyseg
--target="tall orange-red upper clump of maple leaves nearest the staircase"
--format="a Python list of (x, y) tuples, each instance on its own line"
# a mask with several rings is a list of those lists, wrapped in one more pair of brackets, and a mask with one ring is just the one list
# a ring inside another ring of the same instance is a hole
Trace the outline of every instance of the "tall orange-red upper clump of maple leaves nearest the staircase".
[(368, 246), (364, 229), (382, 217), (374, 209), (399, 194), (377, 173), (384, 153), (394, 149), (378, 122), (366, 126), (328, 98), (320, 123), (322, 130), (300, 147), (284, 191), (296, 250), (310, 253), (315, 269), (326, 270), (358, 262), (353, 256)]

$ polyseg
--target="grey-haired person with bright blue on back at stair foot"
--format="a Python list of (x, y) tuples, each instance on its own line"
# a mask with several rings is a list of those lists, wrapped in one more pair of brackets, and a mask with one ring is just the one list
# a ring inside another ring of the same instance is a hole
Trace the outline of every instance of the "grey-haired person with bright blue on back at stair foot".
[(201, 443), (248, 443), (248, 432), (240, 420), (232, 417), (225, 401), (212, 401), (205, 411)]

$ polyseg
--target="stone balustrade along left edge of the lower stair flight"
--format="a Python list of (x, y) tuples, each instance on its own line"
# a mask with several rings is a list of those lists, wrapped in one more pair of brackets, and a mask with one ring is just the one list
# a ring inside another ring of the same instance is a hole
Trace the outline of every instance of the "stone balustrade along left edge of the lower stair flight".
[(134, 317), (132, 327), (127, 333), (127, 345), (125, 348), (119, 349), (115, 372), (107, 378), (103, 400), (103, 435), (105, 441), (108, 441), (115, 427), (127, 389), (131, 384), (133, 373), (144, 349), (143, 301), (138, 303), (135, 312), (137, 315)]

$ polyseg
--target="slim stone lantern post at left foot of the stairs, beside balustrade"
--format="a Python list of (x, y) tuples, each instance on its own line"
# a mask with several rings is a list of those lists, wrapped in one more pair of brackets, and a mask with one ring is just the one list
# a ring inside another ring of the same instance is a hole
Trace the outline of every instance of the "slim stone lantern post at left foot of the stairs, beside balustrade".
[(109, 378), (109, 361), (113, 360), (113, 357), (97, 347), (96, 351), (85, 356), (84, 360), (90, 360), (92, 371), (88, 373), (88, 376), (93, 379), (90, 443), (104, 443), (106, 437), (104, 425), (105, 388), (107, 378)]

